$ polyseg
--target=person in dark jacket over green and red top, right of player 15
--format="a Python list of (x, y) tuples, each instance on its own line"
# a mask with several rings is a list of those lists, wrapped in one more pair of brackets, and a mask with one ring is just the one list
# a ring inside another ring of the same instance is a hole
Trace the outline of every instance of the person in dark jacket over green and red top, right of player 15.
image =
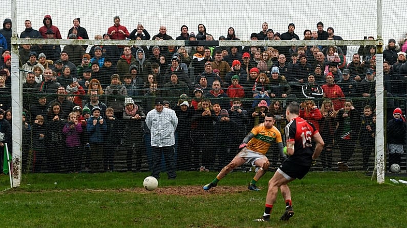
[[(335, 104), (334, 104), (335, 106)], [(353, 107), (352, 100), (346, 100), (344, 108), (337, 111), (335, 140), (340, 150), (339, 171), (348, 171), (348, 161), (352, 157), (360, 130), (360, 115)]]

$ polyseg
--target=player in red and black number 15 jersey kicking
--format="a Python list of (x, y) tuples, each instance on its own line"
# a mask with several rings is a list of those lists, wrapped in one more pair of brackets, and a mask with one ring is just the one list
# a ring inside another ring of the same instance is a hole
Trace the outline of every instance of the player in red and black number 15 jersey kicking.
[[(315, 129), (315, 126), (298, 117), (299, 108), (300, 106), (296, 102), (292, 102), (287, 106), (286, 118), (290, 122), (286, 125), (285, 132), (289, 158), (281, 164), (269, 181), (263, 217), (254, 221), (270, 221), (271, 210), (279, 188), (286, 202), (286, 210), (280, 219), (288, 220), (294, 215), (291, 191), (287, 184), (295, 179), (304, 178), (324, 148), (324, 140)], [(314, 152), (312, 152), (311, 141), (316, 142)]]

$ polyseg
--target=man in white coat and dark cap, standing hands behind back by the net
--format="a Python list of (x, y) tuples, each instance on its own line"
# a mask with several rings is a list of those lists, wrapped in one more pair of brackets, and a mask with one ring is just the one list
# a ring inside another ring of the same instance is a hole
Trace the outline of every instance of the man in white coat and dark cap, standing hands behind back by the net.
[(155, 109), (149, 111), (145, 123), (151, 131), (151, 146), (153, 151), (152, 176), (160, 178), (161, 157), (164, 156), (168, 179), (175, 179), (175, 129), (178, 118), (175, 111), (164, 108), (161, 102), (157, 102)]

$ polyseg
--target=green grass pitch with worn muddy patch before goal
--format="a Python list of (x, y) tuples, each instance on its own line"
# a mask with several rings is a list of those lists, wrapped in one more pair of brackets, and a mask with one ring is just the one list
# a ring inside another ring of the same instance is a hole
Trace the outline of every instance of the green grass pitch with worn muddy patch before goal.
[[(202, 186), (215, 172), (162, 174), (154, 191), (142, 188), (149, 173), (25, 174), (23, 184), (7, 189), (0, 176), (3, 227), (405, 227), (407, 186), (377, 184), (361, 172), (310, 172), (289, 186), (294, 217), (280, 221), (279, 193), (271, 221), (263, 215), (267, 182), (259, 192), (246, 189), (254, 173), (232, 172), (208, 192)], [(397, 178), (398, 179), (398, 178)], [(55, 185), (56, 182), (56, 185)]]

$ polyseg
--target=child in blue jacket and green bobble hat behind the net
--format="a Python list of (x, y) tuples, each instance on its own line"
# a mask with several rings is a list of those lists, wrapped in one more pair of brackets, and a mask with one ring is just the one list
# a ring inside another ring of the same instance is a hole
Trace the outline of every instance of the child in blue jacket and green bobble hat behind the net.
[(92, 116), (87, 122), (87, 131), (89, 133), (89, 143), (91, 147), (90, 169), (91, 172), (103, 170), (103, 134), (107, 130), (103, 117), (100, 116), (99, 106), (92, 108)]

